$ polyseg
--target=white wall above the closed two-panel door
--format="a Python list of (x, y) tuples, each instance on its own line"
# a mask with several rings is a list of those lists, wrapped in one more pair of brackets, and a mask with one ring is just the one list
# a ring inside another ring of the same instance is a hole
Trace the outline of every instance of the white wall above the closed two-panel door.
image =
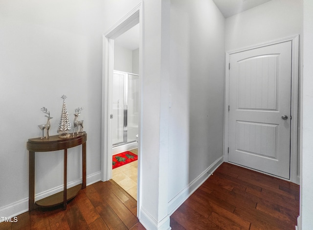
[[(227, 18), (225, 50), (235, 50), (297, 34), (301, 37), (302, 9), (301, 0), (271, 0)], [(297, 174), (300, 175), (299, 154)]]

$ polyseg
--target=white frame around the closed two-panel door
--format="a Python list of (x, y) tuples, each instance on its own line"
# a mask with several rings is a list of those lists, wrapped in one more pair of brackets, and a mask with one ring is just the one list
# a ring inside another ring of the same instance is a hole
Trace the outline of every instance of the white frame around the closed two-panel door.
[[(229, 59), (230, 55), (250, 49), (260, 48), (264, 46), (275, 45), (283, 42), (291, 41), (291, 141), (290, 141), (290, 180), (292, 183), (299, 184), (300, 176), (297, 175), (298, 161), (298, 92), (299, 92), (299, 35), (258, 44), (255, 46), (247, 46), (236, 50), (226, 51), (225, 53), (225, 93), (224, 93), (224, 161), (228, 162), (228, 131), (229, 131)], [(258, 170), (255, 170), (258, 171)], [(264, 173), (264, 172), (262, 172)], [(265, 173), (267, 174), (267, 173)], [(271, 174), (268, 174), (273, 176)], [(274, 176), (276, 177), (276, 176)], [(278, 177), (280, 178), (280, 177)], [(281, 178), (286, 180), (284, 178)]]

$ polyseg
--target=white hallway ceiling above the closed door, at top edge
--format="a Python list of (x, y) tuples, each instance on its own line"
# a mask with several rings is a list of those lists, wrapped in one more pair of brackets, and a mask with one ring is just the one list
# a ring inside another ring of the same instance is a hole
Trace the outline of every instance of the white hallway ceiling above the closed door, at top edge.
[(270, 0), (213, 0), (225, 18), (241, 13)]

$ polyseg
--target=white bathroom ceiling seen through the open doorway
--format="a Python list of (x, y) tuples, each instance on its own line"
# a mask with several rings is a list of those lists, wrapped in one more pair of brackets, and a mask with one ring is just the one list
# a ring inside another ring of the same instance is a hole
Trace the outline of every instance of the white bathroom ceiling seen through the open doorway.
[(139, 48), (139, 23), (115, 38), (114, 44), (130, 50)]

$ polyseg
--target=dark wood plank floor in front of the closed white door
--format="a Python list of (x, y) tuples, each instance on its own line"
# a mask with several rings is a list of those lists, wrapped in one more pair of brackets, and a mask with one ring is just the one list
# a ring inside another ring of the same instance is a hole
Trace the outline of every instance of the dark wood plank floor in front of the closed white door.
[(299, 185), (223, 163), (171, 216), (173, 230), (294, 230)]

